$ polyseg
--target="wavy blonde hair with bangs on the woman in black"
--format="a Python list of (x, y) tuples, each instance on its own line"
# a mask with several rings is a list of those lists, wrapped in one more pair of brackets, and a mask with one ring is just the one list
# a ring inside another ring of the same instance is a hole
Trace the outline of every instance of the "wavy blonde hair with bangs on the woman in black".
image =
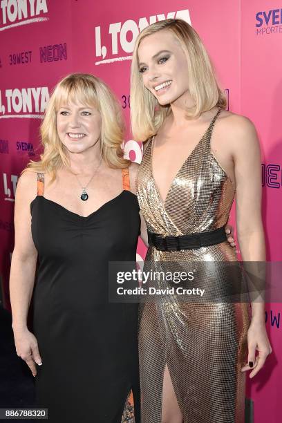
[(101, 151), (102, 159), (109, 167), (128, 167), (130, 161), (123, 158), (124, 119), (122, 109), (115, 95), (102, 79), (88, 73), (71, 73), (55, 86), (40, 126), (41, 144), (44, 152), (39, 161), (30, 160), (28, 169), (48, 172), (50, 182), (56, 178), (57, 169), (70, 167), (64, 144), (57, 133), (57, 111), (62, 104), (80, 102), (95, 106), (101, 113)]

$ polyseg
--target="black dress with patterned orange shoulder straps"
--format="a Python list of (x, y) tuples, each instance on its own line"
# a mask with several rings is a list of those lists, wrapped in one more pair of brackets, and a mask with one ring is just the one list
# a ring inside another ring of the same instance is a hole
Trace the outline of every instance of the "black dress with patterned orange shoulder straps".
[(140, 421), (138, 304), (108, 299), (108, 263), (135, 261), (140, 233), (127, 169), (122, 177), (121, 194), (83, 217), (44, 198), (38, 173), (30, 210), (39, 254), (34, 332), (43, 364), (35, 386), (52, 423), (120, 423), (131, 389)]

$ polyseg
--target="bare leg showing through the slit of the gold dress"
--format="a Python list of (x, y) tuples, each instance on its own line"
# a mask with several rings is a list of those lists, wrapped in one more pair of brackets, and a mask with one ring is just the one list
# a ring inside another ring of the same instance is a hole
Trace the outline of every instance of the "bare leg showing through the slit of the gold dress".
[(176, 394), (166, 364), (162, 389), (162, 423), (182, 423), (182, 421), (183, 417), (176, 400)]

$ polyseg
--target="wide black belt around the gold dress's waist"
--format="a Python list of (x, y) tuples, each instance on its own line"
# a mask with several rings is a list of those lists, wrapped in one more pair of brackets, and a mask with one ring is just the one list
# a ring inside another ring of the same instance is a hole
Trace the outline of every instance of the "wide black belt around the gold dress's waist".
[(226, 241), (225, 225), (210, 232), (200, 234), (161, 236), (148, 232), (149, 246), (153, 245), (160, 251), (197, 250), (200, 247), (208, 247)]

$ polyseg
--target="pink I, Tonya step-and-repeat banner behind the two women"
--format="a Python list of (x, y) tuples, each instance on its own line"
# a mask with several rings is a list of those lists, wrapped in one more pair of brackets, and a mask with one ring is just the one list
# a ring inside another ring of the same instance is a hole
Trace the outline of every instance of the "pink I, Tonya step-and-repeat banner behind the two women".
[[(8, 276), (17, 179), (28, 160), (40, 153), (39, 124), (50, 92), (60, 78), (72, 72), (104, 79), (126, 115), (126, 156), (140, 162), (142, 146), (131, 139), (129, 122), (131, 54), (140, 30), (175, 17), (191, 23), (203, 39), (227, 94), (228, 109), (246, 115), (256, 125), (262, 149), (267, 261), (281, 261), (282, 0), (280, 5), (274, 0), (0, 0), (0, 281), (4, 307), (10, 309)], [(140, 241), (138, 260), (144, 259), (145, 252)], [(252, 383), (247, 383), (255, 423), (281, 421), (280, 316), (281, 303), (266, 305), (265, 321), (274, 353)]]

